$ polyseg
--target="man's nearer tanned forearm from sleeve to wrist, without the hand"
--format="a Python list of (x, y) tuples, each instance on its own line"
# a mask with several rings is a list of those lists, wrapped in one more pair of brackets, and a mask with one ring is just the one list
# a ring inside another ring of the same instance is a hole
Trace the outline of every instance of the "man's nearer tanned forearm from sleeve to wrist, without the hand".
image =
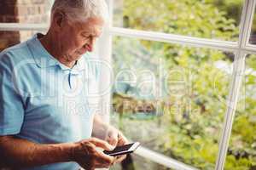
[(7, 166), (33, 167), (71, 161), (75, 144), (35, 144), (13, 136), (0, 137), (2, 160)]

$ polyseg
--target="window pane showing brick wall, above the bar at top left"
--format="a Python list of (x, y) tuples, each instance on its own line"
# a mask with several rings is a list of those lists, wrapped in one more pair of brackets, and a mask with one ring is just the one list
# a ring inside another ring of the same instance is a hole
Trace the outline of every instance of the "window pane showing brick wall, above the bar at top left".
[(54, 0), (1, 1), (0, 22), (44, 24), (49, 22), (49, 10)]

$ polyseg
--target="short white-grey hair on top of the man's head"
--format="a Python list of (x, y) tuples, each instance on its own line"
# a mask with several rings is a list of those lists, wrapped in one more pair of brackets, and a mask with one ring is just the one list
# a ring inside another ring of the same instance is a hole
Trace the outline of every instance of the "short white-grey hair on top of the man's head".
[(63, 12), (72, 21), (86, 21), (93, 17), (108, 21), (105, 0), (55, 0), (51, 8), (51, 20), (56, 12)]

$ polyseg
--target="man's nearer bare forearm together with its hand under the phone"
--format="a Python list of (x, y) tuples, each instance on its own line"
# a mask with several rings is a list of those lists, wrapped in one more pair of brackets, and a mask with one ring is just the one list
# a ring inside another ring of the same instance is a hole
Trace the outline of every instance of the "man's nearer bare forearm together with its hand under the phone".
[(0, 158), (7, 167), (37, 167), (56, 162), (77, 161), (84, 168), (109, 167), (113, 157), (96, 150), (112, 147), (99, 139), (85, 139), (78, 143), (36, 144), (13, 136), (0, 137)]

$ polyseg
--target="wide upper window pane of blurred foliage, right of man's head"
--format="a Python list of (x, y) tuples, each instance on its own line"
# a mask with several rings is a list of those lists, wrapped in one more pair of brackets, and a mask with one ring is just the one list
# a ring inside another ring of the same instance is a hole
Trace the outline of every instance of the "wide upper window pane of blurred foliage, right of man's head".
[(244, 0), (115, 0), (113, 26), (237, 41)]

